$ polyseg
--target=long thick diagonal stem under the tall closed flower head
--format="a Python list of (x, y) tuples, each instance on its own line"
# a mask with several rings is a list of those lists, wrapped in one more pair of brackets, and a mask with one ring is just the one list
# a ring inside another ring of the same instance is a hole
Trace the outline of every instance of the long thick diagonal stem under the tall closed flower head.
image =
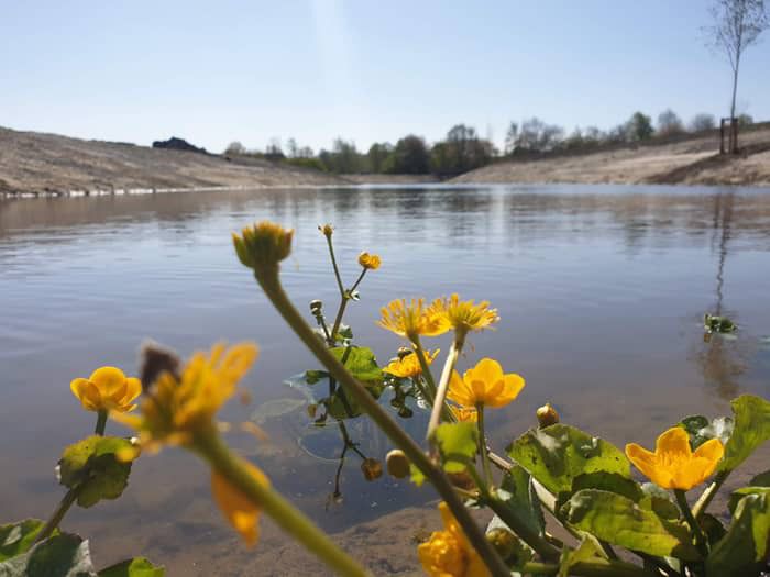
[(278, 310), (284, 320), (295, 331), (316, 358), (329, 373), (350, 392), (361, 408), (372, 418), (380, 429), (391, 439), (395, 446), (404, 451), (409, 461), (430, 480), (441, 498), (452, 511), (458, 523), (463, 528), (465, 535), (479, 552), (493, 577), (508, 577), (510, 572), (501, 559), (494, 547), (486, 541), (484, 533), (471, 517), (465, 506), (454, 492), (452, 484), (444, 473), (436, 467), (415, 441), (391, 418), (391, 415), (377, 403), (361, 382), (359, 382), (340, 362), (329, 352), (321, 341), (315, 335), (312, 329), (297, 311), (290, 299), (284, 291), (278, 279), (278, 267), (256, 267), (254, 276)]

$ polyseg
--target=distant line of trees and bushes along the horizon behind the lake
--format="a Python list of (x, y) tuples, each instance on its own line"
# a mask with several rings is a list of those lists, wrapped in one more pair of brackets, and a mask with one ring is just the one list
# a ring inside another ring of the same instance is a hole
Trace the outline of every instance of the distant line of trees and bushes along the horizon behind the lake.
[[(748, 114), (739, 116), (739, 124), (745, 126), (751, 123), (754, 119)], [(331, 149), (321, 148), (316, 154), (309, 146), (299, 146), (294, 138), (288, 138), (285, 145), (280, 140), (273, 138), (264, 151), (248, 149), (240, 142), (233, 142), (224, 154), (264, 158), (336, 174), (454, 176), (503, 157), (590, 151), (607, 144), (632, 144), (710, 131), (716, 125), (716, 119), (712, 114), (696, 114), (685, 124), (673, 110), (668, 109), (658, 115), (654, 124), (651, 116), (635, 112), (626, 122), (608, 131), (587, 126), (575, 127), (568, 134), (562, 126), (532, 116), (508, 125), (502, 152), (488, 140), (480, 137), (473, 126), (457, 124), (449, 130), (444, 140), (432, 145), (421, 136), (408, 134), (395, 145), (375, 142), (367, 152), (363, 152), (356, 148), (354, 142), (338, 137)]]

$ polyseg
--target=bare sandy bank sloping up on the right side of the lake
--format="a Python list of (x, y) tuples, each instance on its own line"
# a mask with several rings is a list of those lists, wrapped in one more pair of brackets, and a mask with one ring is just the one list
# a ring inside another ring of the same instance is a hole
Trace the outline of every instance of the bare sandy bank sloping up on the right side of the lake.
[(451, 180), (457, 184), (584, 182), (747, 185), (770, 187), (770, 126), (740, 135), (743, 153), (719, 155), (718, 131), (670, 144), (624, 146), (499, 162)]

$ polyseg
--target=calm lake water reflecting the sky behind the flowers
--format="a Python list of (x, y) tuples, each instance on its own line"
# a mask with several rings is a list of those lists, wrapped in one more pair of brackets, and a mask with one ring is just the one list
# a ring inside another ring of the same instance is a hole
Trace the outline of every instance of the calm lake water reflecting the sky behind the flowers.
[[(330, 498), (339, 432), (309, 430), (305, 397), (284, 384), (316, 364), (231, 245), (231, 231), (262, 219), (297, 231), (283, 277), (302, 310), (315, 298), (328, 309), (338, 301), (318, 224), (336, 225), (349, 284), (359, 252), (382, 255), (346, 318), (381, 363), (402, 344), (374, 324), (391, 299), (458, 291), (490, 300), (501, 322), (471, 337), (461, 368), (493, 356), (527, 380), (514, 404), (492, 414), (501, 451), (546, 401), (564, 422), (649, 446), (682, 415), (729, 414), (741, 392), (770, 396), (767, 189), (378, 187), (0, 200), (1, 521), (50, 514), (64, 492), (54, 478), (62, 447), (94, 426), (69, 381), (107, 364), (134, 373), (146, 337), (184, 355), (222, 339), (258, 343), (244, 381), (253, 400), (232, 401), (222, 417), (255, 419), (270, 439), (229, 440), (327, 530), (435, 498), (386, 476), (365, 481), (350, 453), (342, 499)], [(705, 312), (728, 314), (737, 337), (704, 342)], [(447, 351), (446, 339), (437, 346)], [(408, 426), (419, 437), (425, 417)], [(391, 448), (365, 420), (349, 429), (367, 456)], [(249, 558), (273, 565), (251, 574), (279, 575), (280, 556), (266, 556), (280, 537), (265, 525)], [(102, 564), (142, 553), (170, 575), (239, 575), (246, 558), (211, 503), (205, 467), (180, 451), (143, 457), (123, 498), (73, 511), (65, 528), (92, 536)], [(410, 537), (396, 545), (414, 561)]]

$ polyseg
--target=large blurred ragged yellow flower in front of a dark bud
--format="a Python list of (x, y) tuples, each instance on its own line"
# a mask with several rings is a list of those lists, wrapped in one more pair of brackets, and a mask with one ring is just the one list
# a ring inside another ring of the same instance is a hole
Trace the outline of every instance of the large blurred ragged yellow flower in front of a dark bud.
[(256, 359), (253, 343), (226, 351), (217, 344), (207, 356), (198, 352), (187, 362), (182, 376), (164, 371), (142, 401), (141, 417), (118, 420), (140, 431), (146, 447), (161, 443), (190, 444), (193, 434), (213, 426), (217, 411), (235, 392), (235, 385)]

